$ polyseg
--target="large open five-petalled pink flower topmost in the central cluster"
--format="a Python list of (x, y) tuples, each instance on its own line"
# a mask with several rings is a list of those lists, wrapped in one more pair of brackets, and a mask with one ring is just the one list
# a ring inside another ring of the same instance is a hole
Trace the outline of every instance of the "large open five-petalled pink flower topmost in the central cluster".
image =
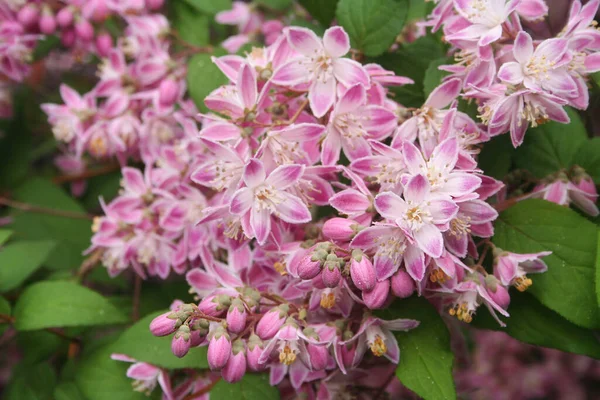
[(289, 44), (302, 55), (277, 69), (271, 81), (293, 86), (309, 83), (308, 99), (316, 117), (322, 117), (335, 103), (337, 83), (350, 87), (369, 85), (369, 75), (356, 61), (342, 58), (350, 51), (350, 39), (343, 28), (325, 31), (323, 40), (307, 28), (284, 29)]

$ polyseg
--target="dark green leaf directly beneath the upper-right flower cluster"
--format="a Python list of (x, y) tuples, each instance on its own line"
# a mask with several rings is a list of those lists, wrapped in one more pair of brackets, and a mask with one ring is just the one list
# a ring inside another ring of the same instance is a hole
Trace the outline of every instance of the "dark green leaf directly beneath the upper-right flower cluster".
[(569, 107), (566, 110), (571, 118), (569, 125), (548, 122), (527, 131), (515, 152), (517, 168), (545, 178), (573, 165), (577, 150), (587, 141), (587, 132), (577, 112)]

